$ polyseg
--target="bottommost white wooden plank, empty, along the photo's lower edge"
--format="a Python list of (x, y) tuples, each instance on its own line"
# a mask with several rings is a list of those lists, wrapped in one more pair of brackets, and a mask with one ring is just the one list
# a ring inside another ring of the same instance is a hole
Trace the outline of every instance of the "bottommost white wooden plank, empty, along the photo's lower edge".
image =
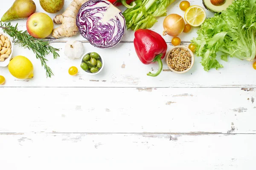
[(0, 134), (3, 170), (254, 170), (256, 134)]

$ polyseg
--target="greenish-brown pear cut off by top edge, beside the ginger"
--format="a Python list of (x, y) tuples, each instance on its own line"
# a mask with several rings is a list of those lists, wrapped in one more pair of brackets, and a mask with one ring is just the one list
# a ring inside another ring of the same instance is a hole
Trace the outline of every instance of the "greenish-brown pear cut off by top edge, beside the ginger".
[(44, 11), (52, 14), (60, 11), (64, 6), (64, 0), (40, 0), (39, 2)]

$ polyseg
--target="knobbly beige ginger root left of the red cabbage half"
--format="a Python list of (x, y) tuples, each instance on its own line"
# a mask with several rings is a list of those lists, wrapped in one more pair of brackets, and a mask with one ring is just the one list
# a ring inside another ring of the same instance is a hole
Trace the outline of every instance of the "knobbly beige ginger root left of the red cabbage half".
[(76, 15), (81, 6), (88, 0), (73, 0), (63, 14), (56, 15), (53, 22), (61, 24), (52, 31), (52, 37), (72, 37), (78, 33), (76, 26)]

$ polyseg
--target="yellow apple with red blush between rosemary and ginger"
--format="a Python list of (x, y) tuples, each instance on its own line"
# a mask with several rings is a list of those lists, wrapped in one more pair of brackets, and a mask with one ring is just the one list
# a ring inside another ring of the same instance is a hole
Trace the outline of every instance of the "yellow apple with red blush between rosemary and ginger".
[(30, 15), (26, 22), (28, 33), (35, 38), (45, 38), (52, 33), (52, 19), (42, 12)]

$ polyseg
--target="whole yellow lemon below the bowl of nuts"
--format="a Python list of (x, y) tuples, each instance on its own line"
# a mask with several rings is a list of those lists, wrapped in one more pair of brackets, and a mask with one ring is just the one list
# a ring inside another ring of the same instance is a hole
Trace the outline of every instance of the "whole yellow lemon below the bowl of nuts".
[(32, 62), (24, 56), (16, 56), (9, 62), (10, 73), (18, 79), (27, 79), (33, 77)]

